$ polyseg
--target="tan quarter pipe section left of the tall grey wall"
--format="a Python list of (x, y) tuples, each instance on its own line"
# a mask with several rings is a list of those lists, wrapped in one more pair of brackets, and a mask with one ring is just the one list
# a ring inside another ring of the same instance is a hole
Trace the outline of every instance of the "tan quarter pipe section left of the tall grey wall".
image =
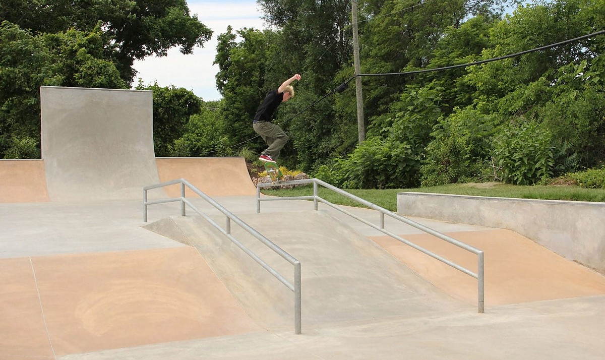
[(48, 201), (43, 160), (0, 160), (0, 203)]

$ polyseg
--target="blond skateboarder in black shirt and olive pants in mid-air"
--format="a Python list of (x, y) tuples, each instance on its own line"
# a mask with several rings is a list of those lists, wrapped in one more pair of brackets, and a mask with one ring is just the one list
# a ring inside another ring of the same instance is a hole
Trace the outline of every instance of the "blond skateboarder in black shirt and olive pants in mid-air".
[(280, 155), (281, 148), (286, 145), (289, 137), (280, 128), (271, 122), (271, 117), (280, 103), (290, 100), (294, 96), (294, 88), (290, 85), (294, 80), (300, 80), (301, 76), (295, 74), (284, 81), (277, 90), (269, 91), (263, 102), (258, 106), (257, 113), (252, 120), (252, 128), (259, 134), (269, 146), (261, 152), (259, 160), (275, 163)]

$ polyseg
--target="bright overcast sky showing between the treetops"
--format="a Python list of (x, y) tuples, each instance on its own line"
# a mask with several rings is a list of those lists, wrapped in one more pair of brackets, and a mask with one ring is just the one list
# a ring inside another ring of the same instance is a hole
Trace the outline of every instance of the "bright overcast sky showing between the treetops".
[(264, 28), (261, 14), (256, 0), (187, 0), (187, 4), (191, 14), (197, 14), (197, 18), (214, 31), (212, 39), (204, 43), (203, 48), (194, 48), (193, 54), (183, 55), (178, 48), (173, 48), (168, 56), (146, 57), (134, 62), (139, 73), (132, 85), (136, 86), (140, 77), (145, 85), (157, 81), (161, 87), (174, 85), (191, 90), (206, 101), (219, 100), (221, 95), (214, 78), (218, 66), (212, 65), (217, 53), (217, 36), (226, 32), (228, 25), (234, 31), (244, 27), (261, 30)]

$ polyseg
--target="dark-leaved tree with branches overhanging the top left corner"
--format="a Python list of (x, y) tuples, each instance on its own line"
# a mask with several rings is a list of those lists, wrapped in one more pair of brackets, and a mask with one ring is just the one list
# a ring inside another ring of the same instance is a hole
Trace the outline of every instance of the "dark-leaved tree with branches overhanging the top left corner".
[(0, 2), (0, 19), (32, 33), (59, 33), (73, 28), (89, 33), (103, 30), (106, 60), (131, 83), (135, 60), (166, 56), (173, 47), (190, 54), (203, 46), (212, 30), (189, 15), (185, 0), (9, 0)]

